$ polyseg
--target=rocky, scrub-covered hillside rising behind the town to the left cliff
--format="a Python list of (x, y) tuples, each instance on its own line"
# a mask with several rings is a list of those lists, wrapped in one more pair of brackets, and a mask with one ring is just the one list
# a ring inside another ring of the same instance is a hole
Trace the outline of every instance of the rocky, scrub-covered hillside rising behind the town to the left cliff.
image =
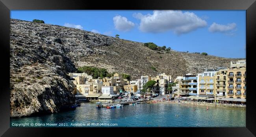
[[(141, 75), (161, 72), (174, 77), (228, 67), (237, 59), (171, 50), (150, 50), (143, 43), (58, 25), (10, 20), (11, 117), (58, 112), (74, 102), (68, 72), (80, 66)], [(153, 70), (155, 67), (156, 70)]]

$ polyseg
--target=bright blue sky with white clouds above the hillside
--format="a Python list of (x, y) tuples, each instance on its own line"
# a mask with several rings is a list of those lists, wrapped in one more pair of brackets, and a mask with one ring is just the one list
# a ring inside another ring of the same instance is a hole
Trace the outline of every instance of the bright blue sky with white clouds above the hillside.
[(177, 51), (206, 52), (224, 58), (246, 57), (246, 11), (208, 10), (29, 10), (12, 19), (44, 20)]

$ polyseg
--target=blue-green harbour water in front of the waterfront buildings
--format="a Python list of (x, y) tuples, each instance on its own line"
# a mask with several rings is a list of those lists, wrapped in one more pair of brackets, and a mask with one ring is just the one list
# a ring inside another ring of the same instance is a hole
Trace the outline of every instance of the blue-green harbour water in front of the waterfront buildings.
[[(10, 119), (10, 126), (16, 127), (22, 123), (28, 123), (25, 127), (246, 126), (246, 110), (232, 108), (208, 107), (206, 110), (204, 106), (162, 103), (124, 105), (123, 108), (112, 109), (97, 109), (95, 106), (94, 103), (81, 103), (81, 106), (77, 107), (76, 110), (68, 112)], [(33, 124), (31, 125), (31, 123)]]

